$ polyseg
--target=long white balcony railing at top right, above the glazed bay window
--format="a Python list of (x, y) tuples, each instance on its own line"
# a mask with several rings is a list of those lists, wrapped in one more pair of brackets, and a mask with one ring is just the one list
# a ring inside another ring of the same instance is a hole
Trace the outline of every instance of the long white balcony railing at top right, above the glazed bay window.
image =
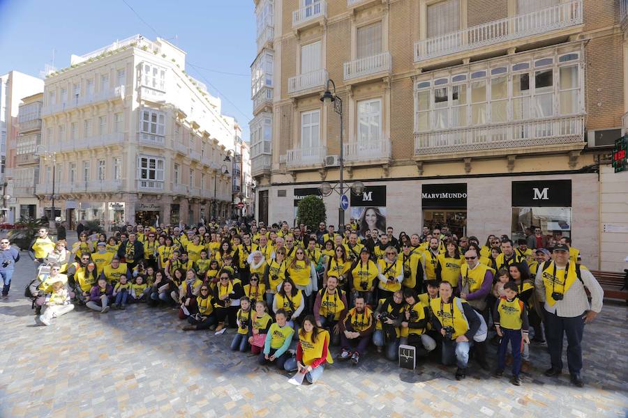
[(414, 62), (576, 26), (582, 23), (582, 11), (582, 0), (572, 0), (525, 15), (419, 40), (414, 44)]

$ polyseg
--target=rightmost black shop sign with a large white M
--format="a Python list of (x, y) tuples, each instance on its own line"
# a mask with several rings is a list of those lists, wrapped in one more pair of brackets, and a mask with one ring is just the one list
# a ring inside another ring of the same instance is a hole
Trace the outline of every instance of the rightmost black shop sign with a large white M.
[(533, 180), (512, 182), (512, 206), (570, 207), (571, 180)]

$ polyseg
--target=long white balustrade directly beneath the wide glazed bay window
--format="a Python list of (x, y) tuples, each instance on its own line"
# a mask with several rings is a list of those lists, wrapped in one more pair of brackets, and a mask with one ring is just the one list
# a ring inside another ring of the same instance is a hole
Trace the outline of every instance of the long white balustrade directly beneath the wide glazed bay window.
[(503, 148), (516, 148), (515, 154), (518, 154), (562, 144), (582, 148), (583, 121), (583, 116), (565, 116), (415, 133), (414, 155), (456, 157), (456, 154), (474, 151), (486, 155), (486, 150)]

